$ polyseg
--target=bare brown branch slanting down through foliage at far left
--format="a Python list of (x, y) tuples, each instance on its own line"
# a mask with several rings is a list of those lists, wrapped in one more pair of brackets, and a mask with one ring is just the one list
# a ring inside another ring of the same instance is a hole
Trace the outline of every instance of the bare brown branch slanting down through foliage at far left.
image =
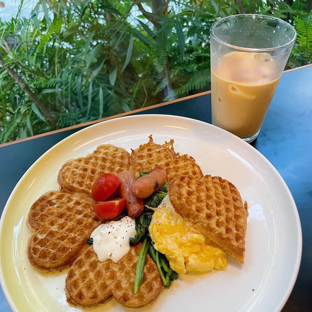
[(38, 109), (41, 111), (41, 113), (48, 119), (53, 126), (56, 124), (55, 117), (52, 116), (51, 112), (41, 103), (39, 98), (35, 93), (30, 90), (27, 83), (22, 80), (20, 76), (17, 75), (17, 73), (7, 66), (5, 62), (3, 61), (2, 57), (0, 56), (0, 65), (8, 72), (8, 74), (20, 85), (20, 87), (27, 93), (29, 98), (35, 103), (35, 105), (38, 107)]

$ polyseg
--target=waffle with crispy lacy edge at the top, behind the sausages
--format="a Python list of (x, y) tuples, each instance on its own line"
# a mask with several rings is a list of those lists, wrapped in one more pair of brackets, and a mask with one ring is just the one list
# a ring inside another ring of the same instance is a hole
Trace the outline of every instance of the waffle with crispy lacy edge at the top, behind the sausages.
[(195, 159), (188, 155), (180, 156), (174, 151), (173, 143), (174, 140), (171, 139), (163, 145), (155, 144), (150, 135), (148, 143), (140, 145), (131, 153), (134, 177), (138, 177), (140, 171), (152, 171), (155, 167), (163, 167), (166, 170), (168, 183), (182, 175), (202, 177), (202, 170), (195, 163)]

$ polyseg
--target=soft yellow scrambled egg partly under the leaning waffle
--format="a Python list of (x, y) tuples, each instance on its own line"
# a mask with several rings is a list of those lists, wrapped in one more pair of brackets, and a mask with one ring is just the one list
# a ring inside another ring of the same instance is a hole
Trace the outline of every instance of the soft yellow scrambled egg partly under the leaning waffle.
[(149, 233), (155, 249), (166, 256), (177, 273), (206, 273), (227, 265), (227, 254), (178, 215), (168, 196), (154, 212)]

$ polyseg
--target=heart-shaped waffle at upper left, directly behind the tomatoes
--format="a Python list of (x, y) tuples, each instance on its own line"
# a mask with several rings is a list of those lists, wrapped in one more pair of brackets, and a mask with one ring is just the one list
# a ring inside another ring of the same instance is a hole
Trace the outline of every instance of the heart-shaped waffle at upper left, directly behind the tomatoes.
[(92, 154), (67, 161), (59, 171), (57, 182), (64, 192), (91, 197), (91, 188), (98, 176), (129, 170), (130, 160), (130, 154), (121, 147), (99, 145)]

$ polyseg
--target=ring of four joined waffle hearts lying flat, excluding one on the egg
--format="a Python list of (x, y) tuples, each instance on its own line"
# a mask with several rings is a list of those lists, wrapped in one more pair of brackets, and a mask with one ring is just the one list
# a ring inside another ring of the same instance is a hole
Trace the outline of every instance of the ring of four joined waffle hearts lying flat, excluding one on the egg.
[(71, 266), (66, 279), (67, 301), (72, 305), (92, 306), (112, 296), (122, 305), (138, 308), (151, 303), (163, 288), (154, 261), (147, 256), (143, 283), (134, 294), (134, 276), (140, 244), (131, 246), (127, 256), (115, 264), (98, 261), (92, 246), (86, 244), (92, 231), (104, 220), (92, 210), (91, 188), (103, 173), (118, 174), (130, 170), (134, 177), (140, 171), (157, 166), (166, 170), (167, 182), (181, 176), (202, 178), (202, 171), (188, 155), (173, 149), (173, 140), (162, 145), (149, 142), (132, 150), (111, 144), (100, 145), (86, 157), (69, 160), (59, 171), (60, 191), (43, 194), (32, 205), (27, 225), (33, 234), (28, 241), (30, 263), (41, 271)]

